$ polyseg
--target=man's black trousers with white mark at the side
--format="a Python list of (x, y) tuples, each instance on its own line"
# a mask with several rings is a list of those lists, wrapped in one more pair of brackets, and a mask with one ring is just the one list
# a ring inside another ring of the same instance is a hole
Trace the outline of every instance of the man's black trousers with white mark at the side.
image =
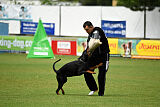
[[(107, 55), (107, 61), (103, 61), (103, 65), (99, 67), (99, 74), (98, 74), (98, 84), (99, 84), (99, 95), (104, 95), (105, 91), (105, 81), (106, 81), (106, 72), (109, 67), (109, 54)], [(98, 90), (96, 81), (92, 74), (85, 73), (84, 74), (85, 81), (87, 83), (87, 86), (91, 91)]]

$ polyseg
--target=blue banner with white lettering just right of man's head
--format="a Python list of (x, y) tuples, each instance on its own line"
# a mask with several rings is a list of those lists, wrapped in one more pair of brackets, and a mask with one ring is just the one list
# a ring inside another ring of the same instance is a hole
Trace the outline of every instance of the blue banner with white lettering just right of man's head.
[(101, 27), (107, 37), (126, 37), (126, 21), (102, 20)]

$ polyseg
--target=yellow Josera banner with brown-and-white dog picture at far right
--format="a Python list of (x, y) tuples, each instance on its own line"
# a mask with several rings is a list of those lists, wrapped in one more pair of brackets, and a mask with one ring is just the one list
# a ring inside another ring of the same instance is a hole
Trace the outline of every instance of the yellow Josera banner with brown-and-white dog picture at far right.
[(160, 56), (159, 40), (118, 40), (118, 53), (125, 57), (138, 56)]

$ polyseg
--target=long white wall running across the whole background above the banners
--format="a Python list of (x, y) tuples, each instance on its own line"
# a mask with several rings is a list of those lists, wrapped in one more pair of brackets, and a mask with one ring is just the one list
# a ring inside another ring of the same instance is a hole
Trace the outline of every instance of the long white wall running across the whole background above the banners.
[[(160, 39), (160, 7), (147, 12), (146, 38)], [(30, 6), (33, 22), (55, 23), (55, 35), (87, 36), (83, 23), (101, 27), (101, 20), (126, 21), (127, 38), (144, 38), (144, 12), (125, 7), (104, 6)], [(20, 34), (20, 21), (9, 20), (9, 34)]]

